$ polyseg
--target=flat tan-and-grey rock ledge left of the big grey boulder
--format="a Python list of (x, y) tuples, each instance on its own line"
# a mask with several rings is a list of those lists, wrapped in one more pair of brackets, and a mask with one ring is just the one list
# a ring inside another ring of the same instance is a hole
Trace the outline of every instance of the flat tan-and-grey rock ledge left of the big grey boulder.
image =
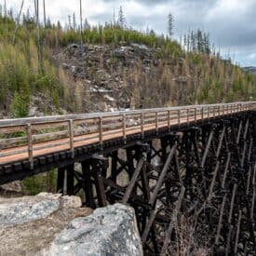
[(78, 196), (0, 198), (0, 255), (36, 255), (71, 221), (91, 212), (81, 209)]

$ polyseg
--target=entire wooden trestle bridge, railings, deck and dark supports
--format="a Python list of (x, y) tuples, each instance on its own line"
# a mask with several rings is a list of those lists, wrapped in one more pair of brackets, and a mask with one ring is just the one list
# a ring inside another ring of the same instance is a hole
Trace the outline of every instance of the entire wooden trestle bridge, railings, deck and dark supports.
[(145, 255), (181, 216), (215, 255), (256, 255), (256, 102), (0, 120), (0, 184), (58, 168), (57, 191), (135, 209)]

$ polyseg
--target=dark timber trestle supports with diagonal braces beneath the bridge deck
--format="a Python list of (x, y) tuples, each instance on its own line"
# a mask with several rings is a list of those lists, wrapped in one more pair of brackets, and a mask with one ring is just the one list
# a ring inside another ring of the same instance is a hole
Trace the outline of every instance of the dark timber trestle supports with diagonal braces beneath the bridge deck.
[(231, 116), (60, 168), (58, 191), (132, 206), (145, 255), (171, 253), (181, 216), (210, 254), (256, 255), (255, 156), (255, 117)]

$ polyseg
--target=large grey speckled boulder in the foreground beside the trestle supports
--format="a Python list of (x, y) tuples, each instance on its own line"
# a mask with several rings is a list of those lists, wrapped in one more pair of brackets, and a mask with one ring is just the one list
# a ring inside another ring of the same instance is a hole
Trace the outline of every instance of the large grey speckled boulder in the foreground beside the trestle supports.
[(141, 256), (141, 238), (134, 210), (120, 204), (77, 218), (56, 236), (43, 255)]

